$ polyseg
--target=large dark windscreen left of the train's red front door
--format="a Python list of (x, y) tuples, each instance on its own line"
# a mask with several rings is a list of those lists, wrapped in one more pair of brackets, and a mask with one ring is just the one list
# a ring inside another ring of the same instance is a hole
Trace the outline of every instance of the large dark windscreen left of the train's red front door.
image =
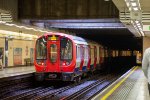
[(46, 59), (46, 45), (47, 42), (43, 39), (40, 38), (36, 42), (36, 59)]

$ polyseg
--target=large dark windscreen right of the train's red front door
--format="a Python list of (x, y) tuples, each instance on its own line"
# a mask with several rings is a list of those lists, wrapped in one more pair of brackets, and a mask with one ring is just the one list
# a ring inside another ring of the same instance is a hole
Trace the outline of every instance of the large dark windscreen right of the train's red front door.
[(60, 42), (61, 46), (61, 60), (72, 60), (72, 42), (67, 38), (62, 38)]

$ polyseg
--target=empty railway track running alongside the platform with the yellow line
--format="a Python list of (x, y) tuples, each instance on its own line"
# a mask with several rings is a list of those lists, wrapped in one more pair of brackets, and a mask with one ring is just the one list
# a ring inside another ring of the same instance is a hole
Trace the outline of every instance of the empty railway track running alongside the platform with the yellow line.
[(81, 90), (62, 98), (61, 100), (81, 100), (81, 99), (90, 100), (93, 97), (93, 95), (102, 91), (106, 86), (108, 86), (113, 81), (114, 81), (114, 77), (108, 75), (106, 77), (98, 79), (97, 81), (90, 84), (89, 86), (84, 87)]

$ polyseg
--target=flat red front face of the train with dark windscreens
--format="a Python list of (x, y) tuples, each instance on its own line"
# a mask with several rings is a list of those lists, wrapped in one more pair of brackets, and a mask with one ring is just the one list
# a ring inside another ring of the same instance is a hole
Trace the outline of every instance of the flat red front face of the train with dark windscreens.
[(47, 34), (38, 38), (34, 60), (36, 80), (72, 81), (75, 67), (73, 45), (65, 36)]

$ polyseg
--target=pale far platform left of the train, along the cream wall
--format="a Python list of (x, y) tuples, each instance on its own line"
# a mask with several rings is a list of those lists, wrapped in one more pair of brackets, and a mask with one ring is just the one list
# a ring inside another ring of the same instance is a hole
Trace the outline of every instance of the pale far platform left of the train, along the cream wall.
[(34, 66), (4, 68), (3, 70), (0, 70), (0, 78), (23, 75), (33, 72), (35, 72)]

